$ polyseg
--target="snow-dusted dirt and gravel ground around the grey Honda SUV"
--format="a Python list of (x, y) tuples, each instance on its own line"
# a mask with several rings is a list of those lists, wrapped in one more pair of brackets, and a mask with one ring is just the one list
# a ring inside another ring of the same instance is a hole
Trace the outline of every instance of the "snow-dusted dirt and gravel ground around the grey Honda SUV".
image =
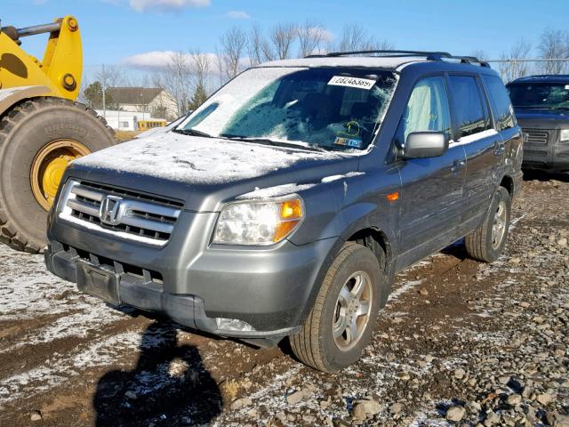
[(569, 175), (532, 173), (506, 253), (397, 275), (361, 361), (115, 310), (0, 246), (0, 426), (569, 425)]

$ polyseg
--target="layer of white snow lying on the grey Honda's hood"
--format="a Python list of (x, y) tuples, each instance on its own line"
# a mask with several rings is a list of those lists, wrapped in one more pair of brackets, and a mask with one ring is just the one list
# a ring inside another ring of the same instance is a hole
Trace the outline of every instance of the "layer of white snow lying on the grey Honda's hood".
[(337, 157), (335, 153), (164, 133), (102, 149), (73, 164), (172, 181), (217, 184), (254, 178), (301, 161)]

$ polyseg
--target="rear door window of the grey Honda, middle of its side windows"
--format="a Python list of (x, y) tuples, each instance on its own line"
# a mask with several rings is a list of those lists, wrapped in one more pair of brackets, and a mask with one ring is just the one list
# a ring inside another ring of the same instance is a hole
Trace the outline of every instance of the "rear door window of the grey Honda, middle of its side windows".
[(459, 139), (490, 129), (490, 117), (476, 79), (470, 76), (451, 76), (450, 80)]

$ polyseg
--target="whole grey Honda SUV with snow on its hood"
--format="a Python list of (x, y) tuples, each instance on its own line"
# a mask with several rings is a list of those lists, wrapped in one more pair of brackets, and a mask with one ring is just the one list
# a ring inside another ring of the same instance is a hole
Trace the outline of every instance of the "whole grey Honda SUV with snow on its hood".
[(370, 53), (247, 69), (172, 131), (77, 159), (47, 268), (116, 306), (349, 366), (397, 271), (465, 236), (473, 258), (501, 254), (522, 178), (487, 64)]

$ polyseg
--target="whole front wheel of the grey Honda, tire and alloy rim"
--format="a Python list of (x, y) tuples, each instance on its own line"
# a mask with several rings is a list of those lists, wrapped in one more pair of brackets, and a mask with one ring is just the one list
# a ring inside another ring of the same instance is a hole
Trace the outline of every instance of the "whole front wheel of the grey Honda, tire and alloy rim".
[(296, 357), (325, 372), (356, 362), (370, 341), (386, 284), (370, 249), (342, 246), (301, 332), (290, 338)]

